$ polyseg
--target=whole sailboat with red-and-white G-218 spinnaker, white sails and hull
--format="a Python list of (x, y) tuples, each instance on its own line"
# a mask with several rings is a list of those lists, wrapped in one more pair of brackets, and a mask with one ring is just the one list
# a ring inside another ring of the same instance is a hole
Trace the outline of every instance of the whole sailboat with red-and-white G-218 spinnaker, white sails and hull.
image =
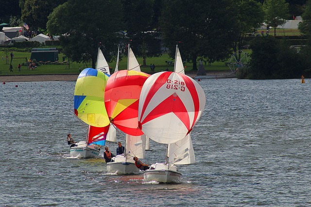
[(166, 160), (144, 172), (146, 181), (179, 182), (176, 164), (193, 163), (190, 132), (206, 103), (202, 87), (184, 74), (178, 45), (174, 72), (159, 72), (144, 83), (139, 97), (138, 126), (152, 140), (167, 144)]

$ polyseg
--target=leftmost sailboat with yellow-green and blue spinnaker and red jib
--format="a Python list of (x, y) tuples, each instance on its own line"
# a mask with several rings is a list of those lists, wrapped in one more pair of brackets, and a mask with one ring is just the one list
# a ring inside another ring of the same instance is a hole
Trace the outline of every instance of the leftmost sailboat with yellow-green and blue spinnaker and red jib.
[(88, 125), (86, 141), (70, 148), (70, 156), (98, 158), (109, 129), (109, 118), (104, 108), (104, 88), (108, 75), (93, 68), (86, 68), (76, 81), (74, 113)]

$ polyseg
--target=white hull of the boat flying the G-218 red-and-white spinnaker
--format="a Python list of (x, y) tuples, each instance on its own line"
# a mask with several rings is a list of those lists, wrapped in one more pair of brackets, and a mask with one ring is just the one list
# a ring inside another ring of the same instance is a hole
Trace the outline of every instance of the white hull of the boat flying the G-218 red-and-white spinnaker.
[(170, 163), (170, 167), (165, 163), (155, 163), (149, 170), (144, 172), (145, 181), (157, 181), (159, 183), (178, 183), (181, 173), (178, 172), (176, 165)]

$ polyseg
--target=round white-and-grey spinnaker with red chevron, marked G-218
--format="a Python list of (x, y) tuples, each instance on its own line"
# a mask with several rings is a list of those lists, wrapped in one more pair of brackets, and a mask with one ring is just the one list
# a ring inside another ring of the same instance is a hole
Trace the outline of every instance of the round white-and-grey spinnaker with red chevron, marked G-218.
[(189, 76), (155, 73), (141, 89), (138, 126), (155, 142), (175, 143), (190, 133), (205, 103), (202, 87)]

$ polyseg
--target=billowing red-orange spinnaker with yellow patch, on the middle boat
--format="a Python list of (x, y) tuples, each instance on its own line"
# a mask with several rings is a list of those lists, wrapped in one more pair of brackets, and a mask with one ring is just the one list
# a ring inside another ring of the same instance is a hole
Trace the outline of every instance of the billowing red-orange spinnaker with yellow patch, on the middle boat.
[(107, 81), (104, 103), (110, 122), (132, 136), (142, 135), (138, 128), (138, 101), (141, 88), (149, 74), (120, 70)]

